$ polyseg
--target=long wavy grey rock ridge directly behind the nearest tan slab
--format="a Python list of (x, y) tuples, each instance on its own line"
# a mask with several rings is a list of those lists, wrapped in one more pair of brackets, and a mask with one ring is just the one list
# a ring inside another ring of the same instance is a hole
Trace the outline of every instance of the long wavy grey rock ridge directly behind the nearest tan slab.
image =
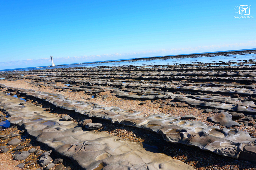
[[(247, 132), (244, 131), (237, 131), (234, 133), (230, 129), (219, 130), (219, 128), (214, 126), (209, 127), (203, 122), (179, 120), (176, 117), (167, 116), (164, 114), (154, 114), (148, 117), (141, 117), (136, 116), (140, 112), (134, 111), (134, 113), (130, 113), (117, 107), (101, 107), (95, 103), (66, 99), (65, 96), (60, 94), (42, 93), (34, 90), (10, 88), (3, 85), (2, 87), (17, 90), (20, 93), (48, 101), (49, 103), (54, 104), (56, 107), (66, 110), (74, 110), (89, 117), (101, 118), (109, 120), (112, 123), (149, 130), (162, 135), (164, 140), (167, 142), (196, 146), (202, 150), (211, 151), (223, 156), (245, 159), (254, 162), (256, 160), (256, 157), (249, 156), (251, 153), (242, 152), (243, 154), (240, 154), (240, 148), (243, 148), (246, 145), (252, 145), (253, 148), (255, 148), (254, 153), (256, 155), (256, 141), (254, 138), (251, 138)], [(195, 99), (189, 99), (181, 96), (177, 97), (175, 95), (172, 95), (172, 98), (186, 101), (191, 105), (202, 105), (209, 107), (211, 106), (211, 103), (216, 104), (214, 102), (195, 101)], [(17, 122), (20, 120), (17, 118), (13, 119), (12, 121)], [(169, 122), (172, 123), (170, 124)], [(58, 124), (57, 122), (55, 123)], [(232, 150), (232, 152), (230, 152), (230, 150)]]

